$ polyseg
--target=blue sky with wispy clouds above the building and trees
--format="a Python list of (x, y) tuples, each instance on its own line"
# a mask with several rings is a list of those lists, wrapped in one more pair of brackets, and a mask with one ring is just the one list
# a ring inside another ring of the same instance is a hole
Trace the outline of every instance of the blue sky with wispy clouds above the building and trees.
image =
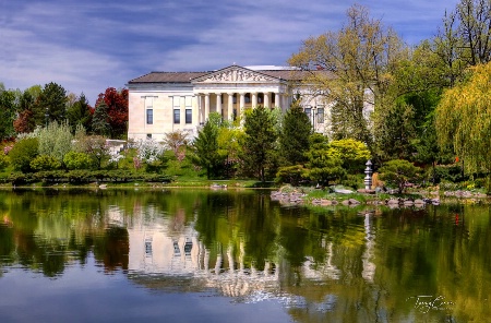
[[(359, 0), (416, 45), (458, 0)], [(91, 104), (151, 71), (285, 65), (301, 41), (337, 31), (343, 0), (0, 0), (0, 82), (56, 82)]]

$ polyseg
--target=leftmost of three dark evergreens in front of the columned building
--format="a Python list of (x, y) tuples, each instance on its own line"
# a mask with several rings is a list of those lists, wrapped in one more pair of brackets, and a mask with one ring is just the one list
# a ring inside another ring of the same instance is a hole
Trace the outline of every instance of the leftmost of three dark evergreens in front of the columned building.
[(197, 133), (193, 146), (195, 163), (206, 169), (208, 179), (212, 178), (225, 162), (225, 158), (218, 152), (218, 127), (213, 121), (207, 120)]

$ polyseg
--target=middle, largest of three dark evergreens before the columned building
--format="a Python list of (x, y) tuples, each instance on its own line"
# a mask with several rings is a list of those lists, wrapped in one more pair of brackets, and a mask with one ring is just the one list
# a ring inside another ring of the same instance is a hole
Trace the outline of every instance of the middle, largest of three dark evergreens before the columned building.
[(276, 122), (271, 109), (259, 106), (246, 113), (241, 160), (247, 174), (265, 181), (267, 172), (276, 172), (277, 137)]

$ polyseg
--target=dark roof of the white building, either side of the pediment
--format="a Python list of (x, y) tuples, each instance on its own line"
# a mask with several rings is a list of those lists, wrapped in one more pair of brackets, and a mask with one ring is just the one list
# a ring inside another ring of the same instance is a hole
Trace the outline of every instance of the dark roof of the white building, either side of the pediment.
[[(260, 68), (265, 68), (264, 70)], [(270, 68), (270, 69), (268, 69)], [(247, 68), (248, 69), (248, 68)], [(255, 71), (268, 76), (273, 76), (276, 79), (285, 80), (285, 81), (300, 81), (307, 76), (309, 73), (307, 71), (299, 71), (292, 68), (283, 68), (278, 67), (251, 67), (249, 68), (251, 71)], [(133, 79), (129, 82), (129, 84), (137, 84), (137, 83), (191, 83), (191, 80), (204, 76), (206, 74), (212, 74), (216, 71), (206, 71), (206, 72), (151, 72), (143, 76)]]

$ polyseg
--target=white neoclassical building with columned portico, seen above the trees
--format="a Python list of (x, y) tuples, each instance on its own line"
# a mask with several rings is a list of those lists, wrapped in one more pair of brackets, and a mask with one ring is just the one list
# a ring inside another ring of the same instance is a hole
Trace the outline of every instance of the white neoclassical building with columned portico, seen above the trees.
[(301, 71), (270, 65), (151, 72), (128, 83), (128, 137), (160, 141), (165, 133), (177, 130), (196, 136), (211, 112), (224, 119), (235, 119), (256, 106), (278, 107), (285, 112), (297, 94), (301, 94), (315, 130), (324, 132), (327, 110), (320, 97), (307, 95), (299, 86), (301, 79)]

